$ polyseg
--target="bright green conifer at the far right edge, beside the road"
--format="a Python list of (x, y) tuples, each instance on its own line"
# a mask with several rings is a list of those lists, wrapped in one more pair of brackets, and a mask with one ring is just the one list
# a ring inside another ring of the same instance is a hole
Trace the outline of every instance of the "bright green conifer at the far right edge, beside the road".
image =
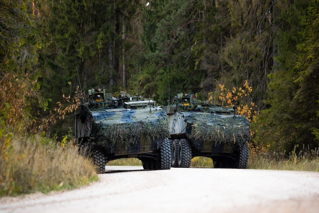
[(273, 149), (318, 143), (318, 7), (317, 1), (298, 2), (281, 14), (286, 23), (278, 38), (279, 65), (269, 75), (271, 108), (261, 112), (255, 126), (255, 140)]

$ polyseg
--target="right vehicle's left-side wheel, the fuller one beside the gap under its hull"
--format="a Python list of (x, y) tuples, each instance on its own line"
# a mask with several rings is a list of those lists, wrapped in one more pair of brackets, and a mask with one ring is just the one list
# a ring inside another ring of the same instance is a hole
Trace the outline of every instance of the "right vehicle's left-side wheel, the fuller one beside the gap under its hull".
[(178, 167), (190, 167), (192, 161), (192, 147), (188, 140), (181, 139), (178, 143)]

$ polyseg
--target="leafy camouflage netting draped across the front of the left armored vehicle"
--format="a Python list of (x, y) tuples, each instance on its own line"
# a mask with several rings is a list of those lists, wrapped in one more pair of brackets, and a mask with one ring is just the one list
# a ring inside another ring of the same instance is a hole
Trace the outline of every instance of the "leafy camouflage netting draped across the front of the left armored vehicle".
[(111, 147), (122, 143), (126, 147), (130, 143), (136, 144), (144, 134), (147, 139), (154, 140), (155, 138), (168, 138), (169, 122), (168, 119), (158, 119), (149, 122), (134, 122), (121, 124), (97, 124), (93, 123), (93, 129), (96, 129), (96, 143), (102, 147)]

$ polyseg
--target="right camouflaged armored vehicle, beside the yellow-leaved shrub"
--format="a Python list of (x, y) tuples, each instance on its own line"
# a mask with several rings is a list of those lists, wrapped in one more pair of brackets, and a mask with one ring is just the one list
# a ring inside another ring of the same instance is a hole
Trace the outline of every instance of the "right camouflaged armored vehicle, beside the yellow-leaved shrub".
[(170, 120), (172, 167), (190, 167), (195, 156), (210, 157), (214, 168), (246, 168), (249, 122), (235, 109), (178, 93), (164, 108)]

